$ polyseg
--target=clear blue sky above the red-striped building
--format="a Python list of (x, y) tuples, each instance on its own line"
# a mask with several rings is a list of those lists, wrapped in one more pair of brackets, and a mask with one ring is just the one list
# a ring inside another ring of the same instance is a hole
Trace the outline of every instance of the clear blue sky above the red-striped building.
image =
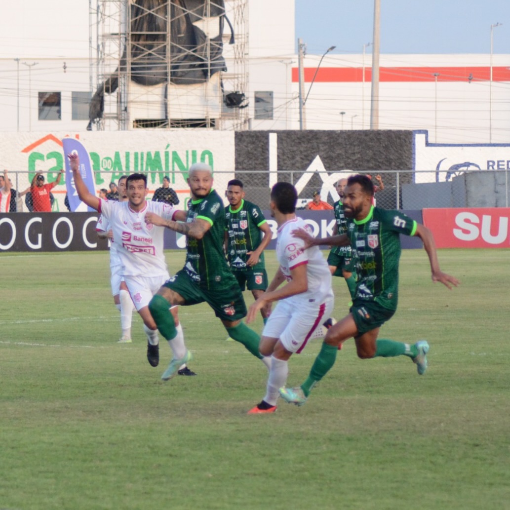
[[(372, 42), (374, 0), (295, 0), (295, 6), (296, 40), (309, 54), (330, 46), (332, 53), (360, 54)], [(488, 54), (491, 24), (498, 22), (493, 53), (510, 54), (510, 0), (380, 0), (380, 53)]]

